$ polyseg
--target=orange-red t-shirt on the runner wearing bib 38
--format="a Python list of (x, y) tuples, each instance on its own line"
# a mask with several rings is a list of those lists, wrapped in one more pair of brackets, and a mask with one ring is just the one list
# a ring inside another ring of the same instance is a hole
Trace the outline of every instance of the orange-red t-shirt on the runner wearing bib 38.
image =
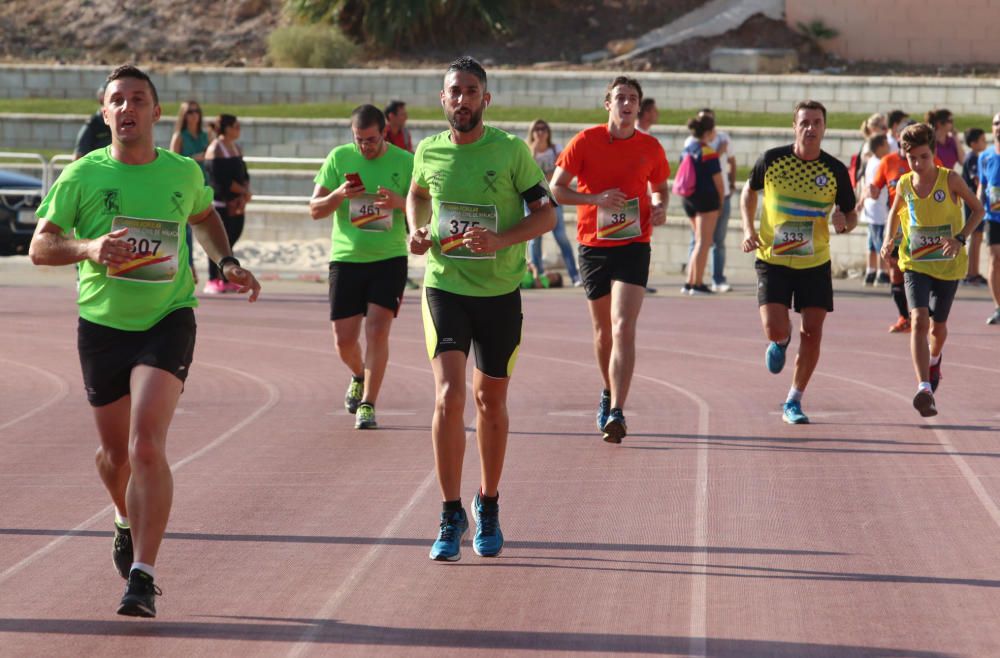
[[(588, 247), (649, 242), (653, 227), (649, 223), (648, 186), (657, 188), (670, 177), (670, 164), (655, 137), (636, 130), (628, 139), (612, 140), (607, 125), (594, 126), (570, 140), (556, 165), (576, 176), (581, 194), (600, 194), (617, 187), (626, 198), (638, 200), (639, 235), (626, 239), (598, 237), (598, 208), (585, 204), (577, 207), (577, 242)], [(601, 234), (613, 235), (606, 226), (602, 225)]]

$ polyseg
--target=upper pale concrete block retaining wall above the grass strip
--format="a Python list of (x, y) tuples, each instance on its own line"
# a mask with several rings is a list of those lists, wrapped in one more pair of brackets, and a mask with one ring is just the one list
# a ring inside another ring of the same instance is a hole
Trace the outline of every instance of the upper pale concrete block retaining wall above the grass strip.
[[(109, 67), (0, 66), (0, 98), (91, 98)], [(384, 105), (401, 98), (435, 105), (443, 71), (401, 69), (149, 69), (160, 98), (202, 103), (323, 103)], [(595, 108), (615, 71), (492, 70), (490, 91), (506, 106)], [(635, 73), (660, 107), (744, 112), (790, 112), (815, 98), (835, 112), (910, 111), (948, 107), (956, 114), (992, 114), (1000, 108), (1000, 80), (823, 75)], [(553, 116), (553, 121), (558, 117)]]

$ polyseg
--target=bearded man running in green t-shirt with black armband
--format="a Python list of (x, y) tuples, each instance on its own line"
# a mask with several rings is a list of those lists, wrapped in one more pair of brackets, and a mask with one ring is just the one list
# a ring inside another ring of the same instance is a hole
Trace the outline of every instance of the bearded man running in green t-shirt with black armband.
[(444, 501), (432, 560), (458, 560), (469, 529), (461, 486), (470, 345), (476, 351), (472, 387), (482, 474), (473, 501), (473, 549), (492, 557), (503, 548), (498, 487), (507, 450), (507, 385), (521, 342), (522, 243), (556, 222), (544, 174), (527, 145), (482, 123), (489, 103), (479, 62), (452, 62), (441, 91), (451, 129), (420, 142), (406, 199), (416, 227), (410, 251), (427, 253), (424, 335), (434, 370), (431, 435)]

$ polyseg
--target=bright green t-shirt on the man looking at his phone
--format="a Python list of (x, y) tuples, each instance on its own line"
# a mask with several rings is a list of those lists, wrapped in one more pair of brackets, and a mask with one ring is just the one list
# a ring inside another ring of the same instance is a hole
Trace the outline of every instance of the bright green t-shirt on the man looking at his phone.
[(330, 235), (330, 260), (348, 263), (372, 263), (405, 256), (406, 215), (401, 209), (391, 213), (372, 205), (379, 186), (403, 197), (410, 189), (413, 154), (388, 144), (388, 150), (368, 160), (354, 144), (344, 144), (330, 151), (314, 179), (317, 185), (335, 190), (344, 184), (345, 174), (358, 174), (365, 184), (365, 195), (344, 199), (333, 215)]

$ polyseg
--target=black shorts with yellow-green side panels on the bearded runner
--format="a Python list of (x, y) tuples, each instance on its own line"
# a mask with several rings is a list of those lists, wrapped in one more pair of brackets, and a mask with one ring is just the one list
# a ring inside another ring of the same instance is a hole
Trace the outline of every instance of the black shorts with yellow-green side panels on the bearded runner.
[(484, 375), (510, 377), (521, 345), (521, 290), (497, 297), (456, 295), (424, 288), (422, 310), (427, 356), (476, 350), (476, 367)]

